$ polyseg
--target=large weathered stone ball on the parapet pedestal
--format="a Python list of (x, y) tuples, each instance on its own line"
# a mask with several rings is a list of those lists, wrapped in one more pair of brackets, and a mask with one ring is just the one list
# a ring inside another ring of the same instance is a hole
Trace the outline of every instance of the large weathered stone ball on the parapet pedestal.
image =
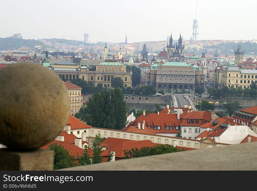
[(60, 77), (33, 62), (0, 69), (0, 143), (12, 150), (34, 150), (63, 131), (70, 99)]

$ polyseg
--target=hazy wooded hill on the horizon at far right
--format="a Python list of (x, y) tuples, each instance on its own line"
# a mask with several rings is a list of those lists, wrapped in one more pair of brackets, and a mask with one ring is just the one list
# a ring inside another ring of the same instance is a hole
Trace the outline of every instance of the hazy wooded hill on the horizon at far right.
[(226, 54), (227, 51), (230, 55), (234, 55), (235, 49), (237, 50), (238, 45), (241, 44), (242, 49), (244, 49), (244, 53), (248, 55), (250, 52), (254, 52), (253, 55), (257, 55), (257, 43), (250, 43), (250, 42), (240, 42), (240, 43), (221, 43), (218, 45), (210, 45), (210, 46), (204, 46), (204, 48), (218, 48), (218, 50)]

